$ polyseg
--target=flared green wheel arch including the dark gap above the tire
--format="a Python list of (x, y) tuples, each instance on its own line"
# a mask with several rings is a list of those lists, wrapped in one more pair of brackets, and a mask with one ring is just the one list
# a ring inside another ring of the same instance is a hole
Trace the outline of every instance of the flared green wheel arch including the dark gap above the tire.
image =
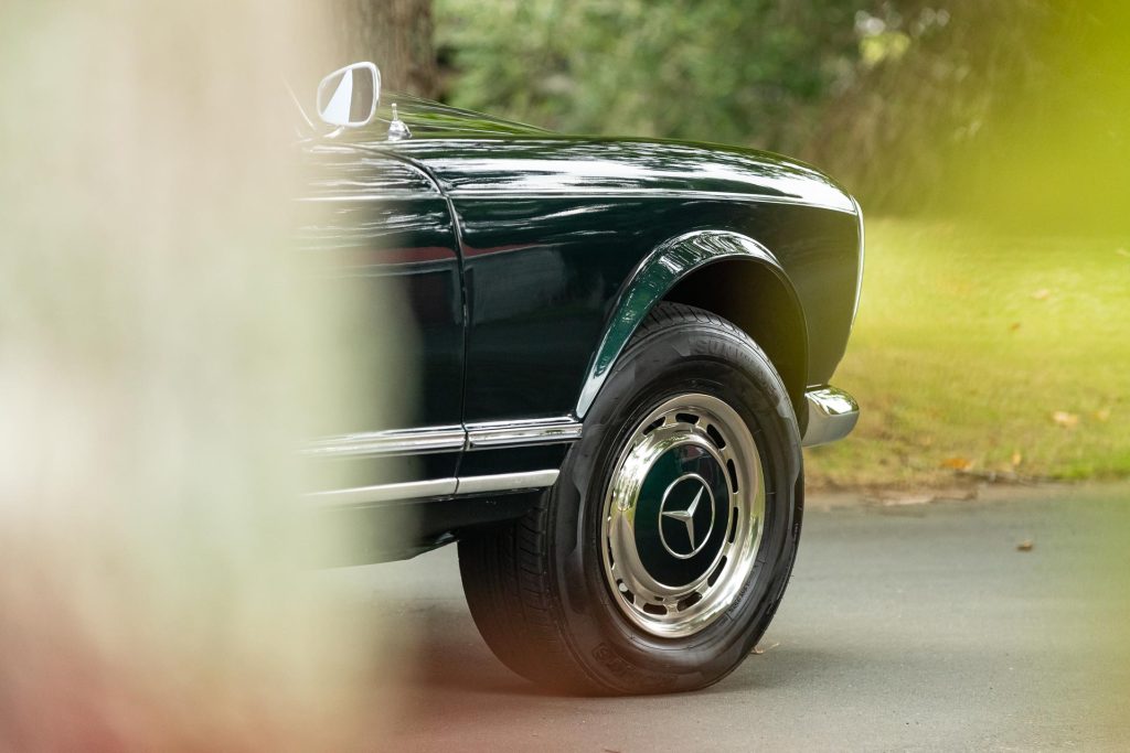
[(589, 364), (576, 415), (584, 418), (640, 323), (662, 300), (722, 316), (765, 351), (784, 380), (803, 430), (808, 326), (781, 263), (747, 236), (702, 230), (658, 246), (634, 270), (609, 313)]

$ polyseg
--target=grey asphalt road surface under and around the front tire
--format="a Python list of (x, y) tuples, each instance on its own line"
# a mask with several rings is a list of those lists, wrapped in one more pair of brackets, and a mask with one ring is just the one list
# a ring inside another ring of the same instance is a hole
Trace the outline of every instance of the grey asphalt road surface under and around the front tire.
[(475, 630), (454, 548), (334, 571), (391, 615), (407, 667), (385, 745), (1130, 750), (1130, 488), (823, 502), (763, 653), (692, 694), (566, 698), (512, 675)]

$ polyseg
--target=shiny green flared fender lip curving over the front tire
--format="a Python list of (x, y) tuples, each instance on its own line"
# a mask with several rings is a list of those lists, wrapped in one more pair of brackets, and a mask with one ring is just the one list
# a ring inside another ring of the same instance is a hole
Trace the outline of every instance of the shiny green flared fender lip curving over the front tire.
[(577, 418), (583, 419), (588, 413), (616, 359), (655, 304), (696, 270), (729, 259), (747, 259), (768, 268), (788, 289), (797, 310), (801, 310), (797, 292), (781, 263), (768, 248), (753, 238), (738, 233), (698, 230), (666, 240), (640, 263), (616, 298), (603, 336), (585, 374), (576, 404)]

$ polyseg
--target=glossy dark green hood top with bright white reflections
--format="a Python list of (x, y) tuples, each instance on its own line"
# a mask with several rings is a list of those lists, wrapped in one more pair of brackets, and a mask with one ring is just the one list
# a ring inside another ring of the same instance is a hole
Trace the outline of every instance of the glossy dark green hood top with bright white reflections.
[[(397, 154), (426, 166), (447, 192), (462, 195), (702, 195), (824, 207), (858, 213), (829, 176), (765, 151), (657, 139), (574, 137), (385, 94), (377, 120), (337, 140)], [(412, 131), (389, 142), (393, 104)]]

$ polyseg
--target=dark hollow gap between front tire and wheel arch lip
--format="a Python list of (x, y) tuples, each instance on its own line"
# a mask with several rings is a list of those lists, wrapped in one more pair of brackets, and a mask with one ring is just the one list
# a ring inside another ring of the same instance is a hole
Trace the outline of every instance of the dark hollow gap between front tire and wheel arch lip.
[(803, 430), (808, 331), (796, 298), (773, 270), (748, 260), (715, 262), (680, 280), (663, 299), (704, 308), (753, 338), (781, 375)]

